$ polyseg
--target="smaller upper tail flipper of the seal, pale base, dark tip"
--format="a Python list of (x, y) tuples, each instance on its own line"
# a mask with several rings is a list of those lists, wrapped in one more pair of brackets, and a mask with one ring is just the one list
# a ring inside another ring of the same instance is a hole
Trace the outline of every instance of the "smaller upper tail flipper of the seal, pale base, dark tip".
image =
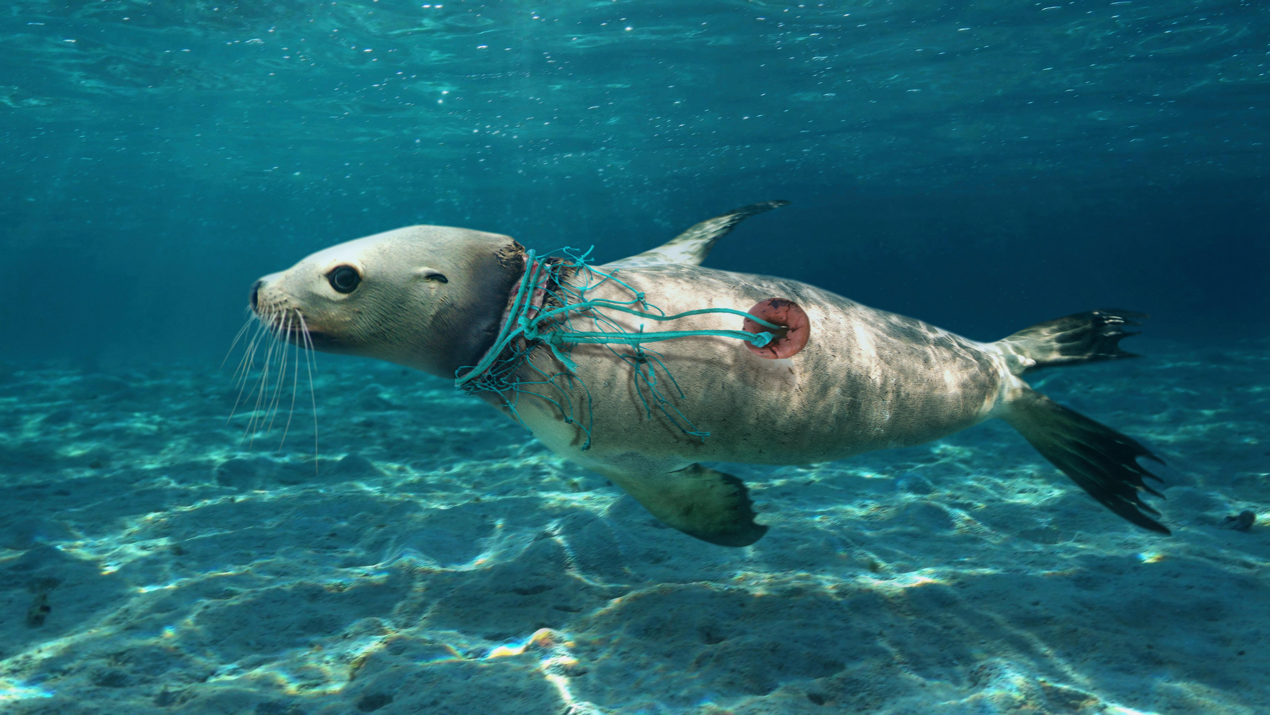
[(1120, 349), (1120, 340), (1138, 333), (1126, 333), (1124, 325), (1140, 325), (1146, 312), (1100, 309), (1046, 320), (992, 343), (1011, 361), (1011, 371), (1021, 375), (1038, 367), (1080, 364), (1104, 359), (1138, 357)]

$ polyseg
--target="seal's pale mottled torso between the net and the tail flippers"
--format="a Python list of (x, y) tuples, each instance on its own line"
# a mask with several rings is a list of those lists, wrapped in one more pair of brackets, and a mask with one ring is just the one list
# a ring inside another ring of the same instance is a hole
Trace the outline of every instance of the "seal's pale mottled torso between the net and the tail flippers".
[[(589, 431), (585, 461), (631, 451), (690, 462), (827, 461), (958, 432), (989, 417), (1001, 394), (992, 356), (917, 320), (794, 281), (681, 265), (631, 273), (622, 273), (625, 281), (667, 314), (792, 300), (806, 311), (812, 338), (787, 359), (765, 359), (715, 337), (646, 344), (643, 361), (627, 345), (575, 347), (579, 381), (532, 391), (566, 400), (577, 424), (546, 399), (522, 417), (558, 451), (579, 450)], [(638, 317), (608, 317), (640, 330)], [(707, 314), (643, 329), (735, 330), (739, 323)], [(547, 351), (533, 362), (544, 372), (561, 370)]]

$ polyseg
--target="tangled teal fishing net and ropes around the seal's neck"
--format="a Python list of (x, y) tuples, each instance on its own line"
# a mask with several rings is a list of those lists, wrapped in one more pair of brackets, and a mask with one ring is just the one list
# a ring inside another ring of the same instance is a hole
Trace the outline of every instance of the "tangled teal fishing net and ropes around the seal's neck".
[[(616, 357), (631, 367), (636, 394), (644, 406), (646, 419), (653, 418), (654, 409), (664, 414), (674, 427), (685, 434), (705, 439), (709, 432), (696, 425), (667, 398), (665, 390), (673, 389), (679, 399), (679, 389), (674, 376), (662, 362), (662, 353), (644, 347), (645, 343), (718, 335), (745, 340), (756, 347), (772, 342), (768, 331), (748, 333), (745, 330), (664, 330), (644, 333), (644, 325), (631, 331), (616, 323), (607, 314), (625, 312), (649, 320), (667, 321), (707, 312), (730, 312), (744, 316), (772, 330), (784, 328), (740, 310), (728, 307), (707, 307), (690, 310), (674, 315), (648, 302), (641, 291), (631, 288), (617, 278), (617, 271), (606, 273), (591, 264), (591, 251), (579, 253), (569, 246), (559, 251), (564, 258), (546, 257), (537, 259), (535, 251), (526, 255), (526, 271), (521, 277), (519, 288), (512, 300), (512, 307), (494, 344), (475, 366), (465, 366), (455, 372), (455, 386), (465, 392), (497, 392), (516, 419), (521, 419), (517, 406), (522, 396), (532, 396), (555, 405), (566, 424), (578, 424), (587, 434), (582, 450), (591, 448), (591, 429), (593, 425), (591, 409), (591, 390), (575, 375), (578, 366), (573, 359), (573, 347), (580, 343), (602, 344)], [(607, 283), (615, 283), (630, 293), (630, 300), (592, 298), (587, 293)], [(536, 300), (536, 298), (541, 298)], [(582, 329), (588, 328), (588, 329)], [(546, 347), (564, 366), (561, 372), (547, 372), (530, 359), (535, 349)], [(631, 352), (618, 352), (615, 345), (627, 345)], [(527, 368), (527, 370), (526, 370)], [(527, 387), (535, 386), (530, 390)], [(547, 387), (546, 392), (541, 387)], [(580, 389), (584, 396), (585, 415), (579, 419), (574, 414), (572, 395)], [(551, 396), (555, 391), (556, 398)]]

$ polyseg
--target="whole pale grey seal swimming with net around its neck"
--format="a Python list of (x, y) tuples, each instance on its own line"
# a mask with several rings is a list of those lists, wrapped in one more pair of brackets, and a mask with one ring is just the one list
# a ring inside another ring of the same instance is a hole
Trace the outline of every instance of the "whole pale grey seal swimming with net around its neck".
[[(516, 394), (479, 394), (556, 453), (612, 480), (663, 523), (723, 546), (753, 544), (767, 527), (754, 522), (739, 479), (701, 462), (841, 460), (921, 444), (993, 418), (1013, 425), (1114, 513), (1168, 533), (1142, 499), (1143, 491), (1160, 495), (1146, 483), (1158, 478), (1138, 464), (1139, 457), (1161, 460), (1021, 378), (1041, 367), (1135, 357), (1119, 342), (1137, 334), (1124, 326), (1144, 314), (1095, 310), (979, 343), (798, 281), (700, 265), (738, 222), (785, 203), (739, 208), (599, 267), (610, 278), (587, 284), (588, 300), (629, 305), (634, 293), (664, 315), (690, 314), (673, 326), (638, 311), (605, 317), (611, 329), (652, 333), (650, 339), (660, 330), (691, 333), (657, 343), (655, 361), (638, 344), (575, 344), (565, 357), (555, 348), (536, 349), (541, 339), (526, 339), (518, 359), (502, 363)], [(522, 305), (522, 291), (546, 301), (533, 304), (533, 311), (546, 316), (558, 309), (542, 284), (523, 287), (536, 265), (509, 236), (409, 226), (331, 246), (265, 276), (250, 300), (257, 316), (293, 343), (455, 377), (488, 357), (516, 319), (512, 309)], [(554, 276), (561, 284), (582, 284), (584, 272), (561, 267)], [(577, 312), (592, 323), (596, 314)], [(762, 330), (756, 317), (777, 326), (771, 343), (743, 345), (729, 337)], [(649, 373), (673, 378), (676, 389), (658, 398), (669, 409), (649, 408)], [(544, 381), (544, 375), (566, 378)], [(582, 414), (589, 415), (585, 424)], [(697, 431), (685, 429), (679, 418)]]

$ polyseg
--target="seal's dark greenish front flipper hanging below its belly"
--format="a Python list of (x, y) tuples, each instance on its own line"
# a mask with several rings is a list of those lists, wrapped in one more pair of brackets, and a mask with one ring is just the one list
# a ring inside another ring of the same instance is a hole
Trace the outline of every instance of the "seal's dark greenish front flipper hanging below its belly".
[(745, 484), (730, 474), (692, 465), (630, 476), (606, 472), (662, 523), (719, 546), (749, 546), (767, 527), (754, 523)]

